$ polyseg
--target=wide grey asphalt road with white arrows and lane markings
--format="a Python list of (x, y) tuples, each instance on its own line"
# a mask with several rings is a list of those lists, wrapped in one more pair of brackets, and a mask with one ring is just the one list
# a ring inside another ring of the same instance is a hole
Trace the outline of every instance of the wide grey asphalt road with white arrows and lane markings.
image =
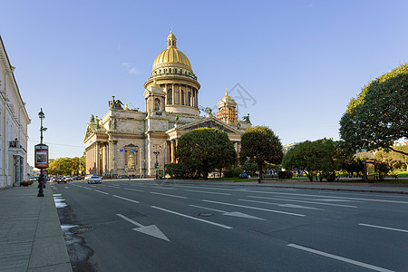
[(73, 266), (408, 271), (408, 196), (162, 182), (53, 184)]

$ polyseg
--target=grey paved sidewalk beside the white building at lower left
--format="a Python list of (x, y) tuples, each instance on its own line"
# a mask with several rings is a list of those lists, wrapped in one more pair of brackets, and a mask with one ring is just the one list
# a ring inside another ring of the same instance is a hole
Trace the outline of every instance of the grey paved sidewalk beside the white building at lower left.
[(73, 271), (47, 184), (0, 189), (0, 271)]

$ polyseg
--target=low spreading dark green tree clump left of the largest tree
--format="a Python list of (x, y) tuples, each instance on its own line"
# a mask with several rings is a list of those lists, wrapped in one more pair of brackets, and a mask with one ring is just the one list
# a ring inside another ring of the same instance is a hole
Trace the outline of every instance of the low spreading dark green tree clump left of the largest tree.
[(282, 166), (287, 170), (305, 172), (310, 181), (313, 181), (316, 174), (319, 174), (320, 180), (325, 178), (327, 181), (335, 181), (336, 170), (342, 167), (342, 156), (336, 141), (304, 141), (287, 151)]

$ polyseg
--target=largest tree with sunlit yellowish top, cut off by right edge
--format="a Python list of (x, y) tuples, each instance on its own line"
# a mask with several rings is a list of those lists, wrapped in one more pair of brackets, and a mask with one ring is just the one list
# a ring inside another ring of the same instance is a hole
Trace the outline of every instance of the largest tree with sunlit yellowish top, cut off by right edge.
[(368, 83), (340, 120), (340, 136), (352, 151), (393, 148), (408, 138), (408, 63)]

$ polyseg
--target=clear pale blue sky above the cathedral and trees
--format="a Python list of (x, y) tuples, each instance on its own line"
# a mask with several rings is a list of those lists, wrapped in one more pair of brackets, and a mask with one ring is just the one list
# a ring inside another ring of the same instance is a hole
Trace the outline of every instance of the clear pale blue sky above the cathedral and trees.
[(170, 26), (201, 84), (199, 104), (213, 107), (236, 86), (239, 118), (249, 112), (284, 144), (337, 140), (350, 99), (408, 60), (407, 1), (0, 4), (0, 34), (32, 120), (31, 165), (41, 107), (51, 158), (82, 155), (86, 124), (112, 95), (144, 111), (143, 84)]

